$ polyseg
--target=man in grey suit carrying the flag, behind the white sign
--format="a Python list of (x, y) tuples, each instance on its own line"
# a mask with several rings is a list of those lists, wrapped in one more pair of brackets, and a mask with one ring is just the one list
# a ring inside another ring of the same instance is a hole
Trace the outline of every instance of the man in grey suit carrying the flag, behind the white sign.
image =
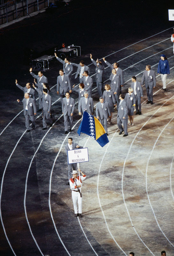
[[(72, 138), (68, 138), (68, 143), (65, 145), (65, 152), (67, 154), (67, 150), (72, 150), (76, 148), (83, 148), (79, 146), (76, 142), (72, 142)], [(67, 154), (67, 164), (68, 164), (68, 154)], [(73, 170), (77, 170), (77, 164), (68, 164), (68, 183), (66, 185), (70, 185), (69, 180), (71, 179), (72, 175), (71, 172)]]

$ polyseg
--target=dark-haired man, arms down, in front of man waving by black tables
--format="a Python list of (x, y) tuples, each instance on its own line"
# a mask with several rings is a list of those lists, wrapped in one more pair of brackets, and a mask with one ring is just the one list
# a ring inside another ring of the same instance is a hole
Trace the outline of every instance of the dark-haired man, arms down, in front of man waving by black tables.
[(59, 70), (59, 75), (57, 76), (57, 94), (60, 94), (60, 100), (62, 104), (62, 99), (66, 92), (72, 92), (70, 79), (67, 75), (64, 75), (64, 70)]

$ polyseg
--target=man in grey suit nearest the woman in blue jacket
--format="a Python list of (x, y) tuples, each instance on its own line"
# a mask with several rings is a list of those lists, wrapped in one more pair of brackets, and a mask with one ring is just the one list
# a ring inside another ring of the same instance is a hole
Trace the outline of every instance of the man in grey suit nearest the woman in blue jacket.
[[(148, 74), (149, 73), (149, 74)], [(146, 70), (143, 72), (143, 76), (141, 79), (141, 85), (144, 84), (145, 81), (145, 87), (146, 92), (148, 96), (148, 102), (146, 104), (153, 104), (153, 88), (156, 86), (156, 77), (155, 77), (155, 71), (151, 70), (151, 66), (147, 65)]]

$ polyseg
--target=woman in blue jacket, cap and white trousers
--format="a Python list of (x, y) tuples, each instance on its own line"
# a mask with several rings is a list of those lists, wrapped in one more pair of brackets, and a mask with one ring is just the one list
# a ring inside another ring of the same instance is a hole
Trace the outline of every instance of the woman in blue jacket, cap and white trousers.
[(163, 82), (163, 91), (166, 92), (166, 78), (170, 74), (169, 61), (167, 60), (165, 54), (161, 55), (161, 60), (158, 63), (158, 75), (161, 74), (161, 79)]

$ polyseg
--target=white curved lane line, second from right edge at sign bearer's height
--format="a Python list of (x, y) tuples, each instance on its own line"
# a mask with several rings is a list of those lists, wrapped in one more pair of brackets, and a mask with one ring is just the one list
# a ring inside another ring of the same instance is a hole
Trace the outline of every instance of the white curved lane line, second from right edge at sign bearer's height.
[[(172, 98), (173, 98), (173, 96), (172, 96)], [(171, 98), (170, 98), (170, 99), (171, 99)], [(167, 241), (174, 247), (174, 245), (170, 242), (170, 240), (168, 239), (168, 237), (164, 234), (162, 228), (160, 227), (160, 225), (159, 225), (159, 223), (158, 223), (158, 220), (157, 220), (157, 218), (156, 218), (156, 215), (155, 215), (154, 209), (153, 209), (153, 207), (152, 207), (152, 204), (151, 204), (151, 202), (150, 202), (150, 197), (149, 197), (149, 194), (148, 194), (148, 164), (149, 164), (150, 158), (151, 158), (151, 156), (152, 156), (152, 153), (153, 153), (153, 151), (154, 151), (154, 148), (155, 148), (155, 146), (156, 146), (157, 141), (159, 140), (159, 138), (160, 138), (161, 134), (163, 133), (163, 131), (165, 130), (165, 128), (170, 124), (170, 122), (171, 122), (173, 119), (174, 119), (174, 116), (170, 119), (170, 121), (168, 122), (168, 124), (166, 124), (166, 125), (164, 126), (163, 130), (162, 130), (162, 131), (160, 132), (160, 134), (158, 135), (158, 138), (156, 139), (156, 141), (155, 141), (155, 143), (154, 143), (154, 146), (153, 146), (153, 148), (152, 148), (152, 151), (151, 151), (151, 153), (150, 153), (150, 155), (149, 155), (148, 162), (147, 162), (147, 166), (146, 166), (146, 193), (147, 193), (147, 196), (148, 196), (148, 201), (149, 201), (150, 207), (151, 207), (151, 209), (152, 209), (152, 212), (153, 212), (153, 214), (154, 214), (156, 223), (157, 223), (157, 225), (158, 225), (158, 228), (159, 228), (160, 231), (162, 232), (163, 236), (165, 236), (165, 238), (167, 239)]]

